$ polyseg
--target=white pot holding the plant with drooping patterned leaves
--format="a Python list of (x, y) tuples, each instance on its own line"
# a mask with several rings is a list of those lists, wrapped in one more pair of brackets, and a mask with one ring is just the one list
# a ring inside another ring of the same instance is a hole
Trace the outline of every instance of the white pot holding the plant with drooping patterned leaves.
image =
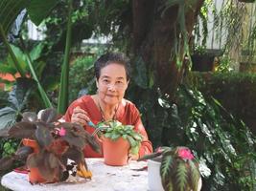
[(160, 177), (161, 162), (148, 160), (148, 181), (150, 191), (164, 191)]

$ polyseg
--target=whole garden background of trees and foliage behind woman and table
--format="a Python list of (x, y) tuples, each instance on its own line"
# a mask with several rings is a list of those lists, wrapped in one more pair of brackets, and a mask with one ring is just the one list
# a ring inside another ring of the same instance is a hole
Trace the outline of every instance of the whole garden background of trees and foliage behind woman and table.
[[(244, 1), (1, 0), (0, 131), (94, 94), (94, 60), (119, 51), (154, 148), (190, 147), (202, 190), (255, 190), (255, 2)], [(18, 143), (1, 138), (1, 156)]]

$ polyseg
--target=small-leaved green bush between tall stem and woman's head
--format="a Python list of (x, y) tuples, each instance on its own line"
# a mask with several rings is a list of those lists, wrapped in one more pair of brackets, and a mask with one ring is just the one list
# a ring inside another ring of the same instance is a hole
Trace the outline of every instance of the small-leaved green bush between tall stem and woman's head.
[(85, 94), (95, 92), (94, 60), (95, 58), (92, 56), (79, 57), (71, 65), (69, 73), (70, 102), (79, 96), (81, 90), (84, 91)]

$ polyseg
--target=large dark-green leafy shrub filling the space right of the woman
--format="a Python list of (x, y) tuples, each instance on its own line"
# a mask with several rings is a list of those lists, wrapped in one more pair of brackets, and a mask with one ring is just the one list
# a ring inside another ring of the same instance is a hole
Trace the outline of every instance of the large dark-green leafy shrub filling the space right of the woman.
[(174, 101), (157, 91), (131, 92), (143, 96), (131, 100), (142, 113), (153, 146), (184, 145), (195, 151), (205, 164), (200, 166), (202, 190), (255, 189), (255, 137), (244, 122), (213, 97), (186, 86), (178, 88)]

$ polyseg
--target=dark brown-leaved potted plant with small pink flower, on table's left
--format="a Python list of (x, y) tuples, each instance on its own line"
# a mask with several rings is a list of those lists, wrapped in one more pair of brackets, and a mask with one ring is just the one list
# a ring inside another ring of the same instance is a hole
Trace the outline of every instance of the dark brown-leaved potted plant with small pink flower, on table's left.
[[(12, 157), (0, 159), (0, 170), (10, 169), (15, 159), (25, 159), (32, 183), (66, 180), (68, 171), (73, 168), (72, 175), (90, 179), (92, 174), (87, 169), (82, 149), (89, 144), (100, 152), (95, 138), (81, 125), (58, 121), (57, 111), (52, 108), (38, 116), (33, 112), (23, 113), (22, 120), (9, 130), (9, 136), (23, 138), (25, 146), (19, 147)], [(74, 162), (70, 164), (68, 159)]]

